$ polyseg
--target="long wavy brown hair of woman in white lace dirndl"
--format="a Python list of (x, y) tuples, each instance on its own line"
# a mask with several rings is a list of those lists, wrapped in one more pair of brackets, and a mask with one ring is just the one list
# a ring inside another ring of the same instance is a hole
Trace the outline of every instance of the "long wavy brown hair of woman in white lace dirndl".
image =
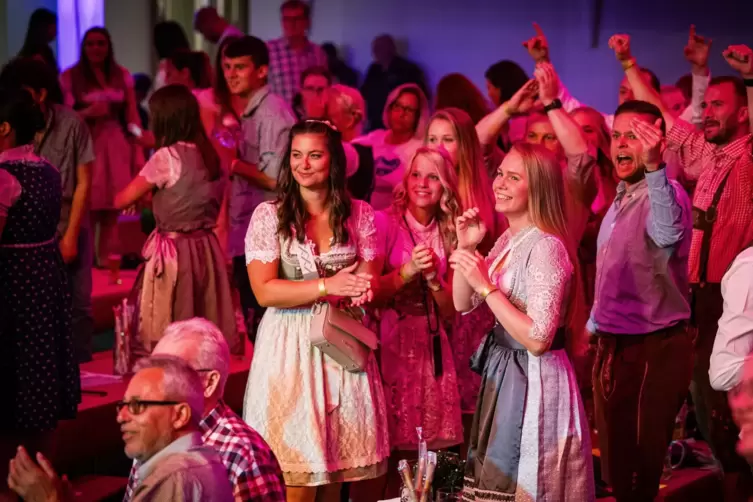
[(330, 158), (327, 194), (329, 225), (334, 242), (346, 244), (349, 238), (347, 222), (353, 204), (345, 185), (346, 160), (342, 136), (332, 126), (319, 120), (304, 120), (290, 129), (288, 147), (282, 158), (277, 180), (277, 231), (285, 238), (295, 237), (298, 242), (303, 242), (306, 238), (306, 221), (309, 214), (301, 197), (301, 187), (293, 177), (293, 169), (290, 167), (293, 139), (299, 134), (319, 134), (327, 139)]

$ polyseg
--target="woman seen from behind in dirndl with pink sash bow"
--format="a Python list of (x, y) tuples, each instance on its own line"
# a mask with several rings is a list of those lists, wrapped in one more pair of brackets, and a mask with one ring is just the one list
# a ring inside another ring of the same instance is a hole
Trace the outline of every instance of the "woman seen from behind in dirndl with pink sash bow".
[(168, 324), (192, 317), (215, 323), (231, 350), (242, 352), (225, 259), (213, 232), (226, 180), (198, 102), (187, 87), (168, 85), (152, 94), (149, 110), (157, 151), (115, 199), (124, 208), (153, 193), (157, 221), (130, 295), (136, 305), (134, 353), (151, 352)]

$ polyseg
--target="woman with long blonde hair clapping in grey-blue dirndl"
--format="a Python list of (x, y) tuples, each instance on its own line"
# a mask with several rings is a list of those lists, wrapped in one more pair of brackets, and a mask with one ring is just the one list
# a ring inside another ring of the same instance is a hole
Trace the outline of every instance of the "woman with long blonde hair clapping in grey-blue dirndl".
[(564, 216), (562, 169), (546, 149), (517, 144), (493, 184), (509, 229), (482, 257), (476, 209), (458, 218), (453, 299), (486, 303), (493, 331), (471, 364), (481, 374), (463, 499), (594, 500), (593, 460), (566, 347), (583, 330), (575, 246)]

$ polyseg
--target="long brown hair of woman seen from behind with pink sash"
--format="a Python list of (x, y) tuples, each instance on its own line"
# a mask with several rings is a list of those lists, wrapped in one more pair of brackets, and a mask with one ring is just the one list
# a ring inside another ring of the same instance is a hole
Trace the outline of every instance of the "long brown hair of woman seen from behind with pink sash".
[(185, 141), (199, 149), (204, 167), (209, 172), (209, 180), (219, 179), (220, 157), (209, 142), (201, 122), (199, 102), (184, 85), (166, 85), (149, 98), (152, 132), (157, 140), (157, 148), (168, 147)]

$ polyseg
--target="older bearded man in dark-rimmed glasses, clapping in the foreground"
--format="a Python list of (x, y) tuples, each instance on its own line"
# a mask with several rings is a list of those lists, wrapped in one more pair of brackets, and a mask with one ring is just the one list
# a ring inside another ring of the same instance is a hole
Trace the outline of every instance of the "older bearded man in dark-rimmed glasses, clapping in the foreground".
[[(225, 502), (233, 500), (217, 451), (199, 430), (204, 396), (198, 373), (174, 356), (142, 359), (117, 403), (125, 453), (134, 459), (136, 479), (129, 500)], [(50, 462), (37, 466), (19, 449), (10, 462), (9, 486), (24, 500), (58, 502), (73, 498)]]

